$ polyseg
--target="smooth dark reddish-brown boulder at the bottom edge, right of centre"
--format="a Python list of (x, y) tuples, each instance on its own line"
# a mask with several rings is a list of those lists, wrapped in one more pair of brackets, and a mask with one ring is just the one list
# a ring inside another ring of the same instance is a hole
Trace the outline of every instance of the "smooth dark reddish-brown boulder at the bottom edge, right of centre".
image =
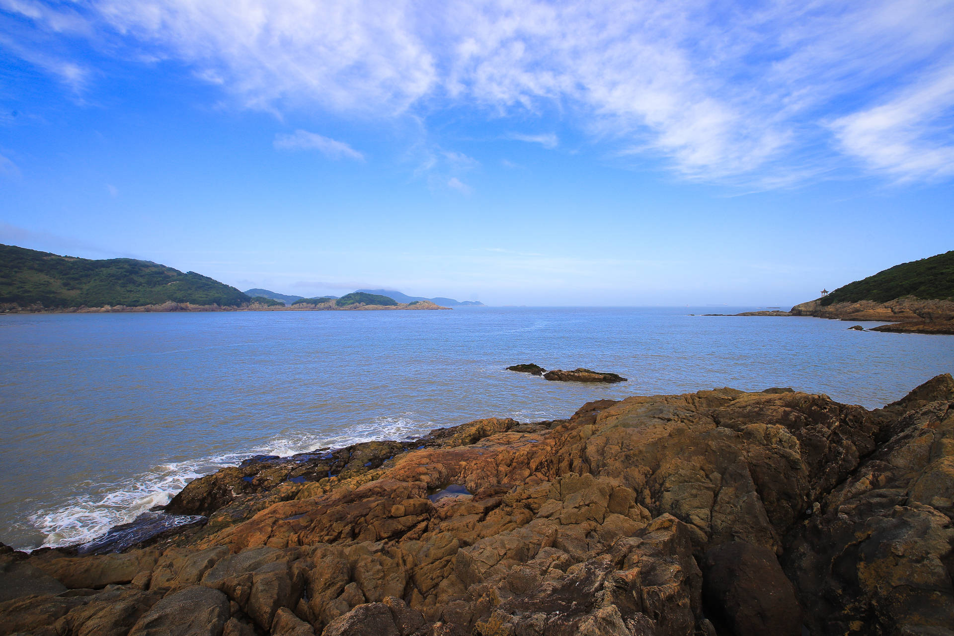
[(801, 608), (775, 552), (732, 542), (706, 552), (702, 601), (720, 634), (801, 636)]

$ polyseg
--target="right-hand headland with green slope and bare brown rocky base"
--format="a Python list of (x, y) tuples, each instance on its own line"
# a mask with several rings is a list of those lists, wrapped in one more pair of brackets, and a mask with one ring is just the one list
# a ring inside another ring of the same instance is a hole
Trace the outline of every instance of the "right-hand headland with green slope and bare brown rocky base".
[(954, 251), (848, 283), (796, 305), (791, 314), (894, 323), (872, 331), (954, 334)]

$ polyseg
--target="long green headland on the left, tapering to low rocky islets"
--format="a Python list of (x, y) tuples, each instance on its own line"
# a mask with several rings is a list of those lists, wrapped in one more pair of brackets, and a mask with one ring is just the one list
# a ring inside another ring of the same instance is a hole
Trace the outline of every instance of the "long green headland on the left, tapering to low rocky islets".
[(240, 292), (196, 272), (150, 260), (59, 256), (0, 245), (0, 313), (447, 309), (357, 291), (285, 306), (268, 290)]

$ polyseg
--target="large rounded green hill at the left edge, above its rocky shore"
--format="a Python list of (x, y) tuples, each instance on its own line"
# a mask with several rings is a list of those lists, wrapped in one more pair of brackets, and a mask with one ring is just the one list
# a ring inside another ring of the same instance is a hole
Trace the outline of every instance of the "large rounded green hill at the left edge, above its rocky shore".
[(173, 301), (226, 307), (250, 300), (213, 278), (148, 260), (91, 260), (0, 245), (0, 304), (58, 309)]

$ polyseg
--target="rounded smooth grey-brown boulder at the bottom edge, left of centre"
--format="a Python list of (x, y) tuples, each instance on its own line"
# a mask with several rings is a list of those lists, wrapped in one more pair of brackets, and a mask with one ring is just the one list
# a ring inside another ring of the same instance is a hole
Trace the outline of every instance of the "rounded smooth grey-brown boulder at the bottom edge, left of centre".
[(165, 597), (146, 612), (129, 636), (220, 636), (229, 600), (211, 587), (194, 585)]

